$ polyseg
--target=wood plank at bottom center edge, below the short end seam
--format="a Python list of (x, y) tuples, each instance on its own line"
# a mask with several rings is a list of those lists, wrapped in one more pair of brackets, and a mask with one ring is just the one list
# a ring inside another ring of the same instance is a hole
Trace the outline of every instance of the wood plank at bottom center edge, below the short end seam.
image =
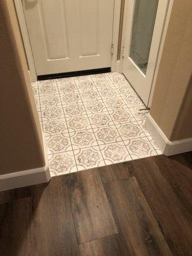
[(81, 256), (127, 256), (118, 234), (79, 244)]

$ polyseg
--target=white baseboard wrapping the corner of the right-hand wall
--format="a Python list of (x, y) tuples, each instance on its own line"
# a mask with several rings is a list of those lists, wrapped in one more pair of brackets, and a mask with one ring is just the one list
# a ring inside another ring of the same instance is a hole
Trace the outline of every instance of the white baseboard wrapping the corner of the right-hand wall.
[(147, 114), (147, 120), (145, 122), (148, 132), (151, 134), (157, 146), (165, 156), (172, 156), (192, 150), (192, 138), (184, 140), (170, 141), (157, 125), (155, 120)]

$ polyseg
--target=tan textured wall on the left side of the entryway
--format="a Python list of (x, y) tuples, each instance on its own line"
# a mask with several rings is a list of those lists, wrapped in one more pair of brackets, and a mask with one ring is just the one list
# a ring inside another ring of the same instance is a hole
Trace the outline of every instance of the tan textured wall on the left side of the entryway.
[(0, 1), (0, 175), (45, 165), (13, 0)]

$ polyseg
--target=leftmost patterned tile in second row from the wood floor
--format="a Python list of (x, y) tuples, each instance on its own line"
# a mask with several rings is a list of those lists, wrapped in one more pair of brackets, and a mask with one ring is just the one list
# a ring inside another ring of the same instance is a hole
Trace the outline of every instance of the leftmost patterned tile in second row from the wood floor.
[(46, 137), (48, 154), (72, 150), (68, 133)]

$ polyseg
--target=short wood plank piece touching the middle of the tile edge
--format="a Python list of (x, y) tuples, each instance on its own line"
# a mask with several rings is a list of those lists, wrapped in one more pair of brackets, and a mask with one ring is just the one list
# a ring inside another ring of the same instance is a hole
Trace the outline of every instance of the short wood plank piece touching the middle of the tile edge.
[(129, 166), (125, 163), (111, 164), (98, 168), (100, 179), (103, 183), (113, 182), (131, 177), (128, 172)]

